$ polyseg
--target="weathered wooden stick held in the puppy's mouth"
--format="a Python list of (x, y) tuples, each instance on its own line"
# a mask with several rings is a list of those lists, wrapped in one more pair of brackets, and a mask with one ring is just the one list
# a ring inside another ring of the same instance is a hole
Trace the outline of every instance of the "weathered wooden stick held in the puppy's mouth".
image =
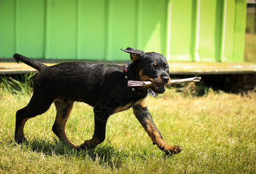
[[(192, 78), (183, 78), (183, 79), (172, 79), (171, 85), (190, 83), (190, 82), (199, 82), (201, 77), (192, 77)], [(154, 85), (150, 81), (128, 81), (127, 86), (150, 86)]]

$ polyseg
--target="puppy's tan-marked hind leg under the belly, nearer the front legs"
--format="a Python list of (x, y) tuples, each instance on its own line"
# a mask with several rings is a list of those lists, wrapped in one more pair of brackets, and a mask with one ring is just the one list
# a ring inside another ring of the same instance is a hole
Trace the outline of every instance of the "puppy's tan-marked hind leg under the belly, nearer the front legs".
[(73, 101), (72, 100), (66, 100), (66, 99), (57, 99), (55, 100), (54, 104), (57, 110), (57, 115), (55, 118), (54, 125), (52, 126), (52, 131), (55, 133), (55, 135), (58, 136), (58, 138), (65, 143), (67, 143), (71, 147), (77, 148), (78, 146), (75, 146), (65, 133), (65, 126), (66, 121), (68, 121), (69, 115), (71, 113), (72, 107), (73, 107)]

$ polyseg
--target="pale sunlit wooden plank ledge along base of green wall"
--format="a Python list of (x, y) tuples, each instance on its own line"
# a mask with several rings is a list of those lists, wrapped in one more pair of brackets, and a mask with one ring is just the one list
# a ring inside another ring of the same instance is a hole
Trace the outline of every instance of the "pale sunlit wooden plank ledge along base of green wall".
[[(111, 63), (111, 62), (104, 62)], [(55, 63), (45, 63), (52, 66)], [(169, 62), (170, 74), (250, 74), (256, 73), (256, 63)], [(0, 74), (36, 73), (24, 63), (0, 62)]]

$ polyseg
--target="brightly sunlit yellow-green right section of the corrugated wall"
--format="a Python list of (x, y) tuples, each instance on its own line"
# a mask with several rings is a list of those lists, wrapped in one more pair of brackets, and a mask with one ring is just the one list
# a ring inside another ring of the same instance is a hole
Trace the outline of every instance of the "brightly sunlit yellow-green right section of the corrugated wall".
[(173, 0), (168, 9), (169, 60), (243, 61), (246, 0)]

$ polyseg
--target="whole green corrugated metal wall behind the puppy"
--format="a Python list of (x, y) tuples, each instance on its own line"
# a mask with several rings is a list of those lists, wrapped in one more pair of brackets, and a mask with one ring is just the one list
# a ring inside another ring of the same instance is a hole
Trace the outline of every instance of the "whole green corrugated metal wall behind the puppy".
[(246, 0), (0, 0), (0, 58), (243, 61)]

